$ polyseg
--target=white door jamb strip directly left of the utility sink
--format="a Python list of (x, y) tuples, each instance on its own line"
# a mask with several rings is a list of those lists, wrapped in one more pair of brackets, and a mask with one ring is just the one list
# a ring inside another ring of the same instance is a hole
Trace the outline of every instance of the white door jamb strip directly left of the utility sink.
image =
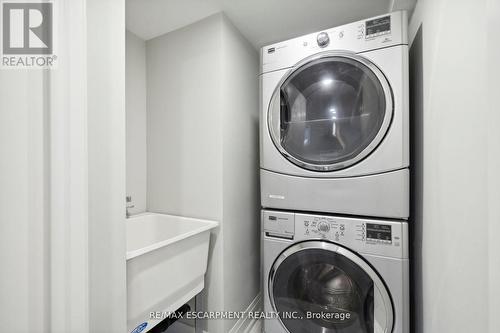
[(125, 1), (85, 6), (89, 331), (121, 333), (127, 329)]

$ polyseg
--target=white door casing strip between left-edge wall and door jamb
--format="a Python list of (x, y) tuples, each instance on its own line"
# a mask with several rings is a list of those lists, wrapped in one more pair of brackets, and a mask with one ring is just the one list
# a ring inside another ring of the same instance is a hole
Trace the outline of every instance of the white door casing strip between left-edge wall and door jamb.
[(85, 0), (57, 2), (50, 118), (50, 331), (89, 331)]

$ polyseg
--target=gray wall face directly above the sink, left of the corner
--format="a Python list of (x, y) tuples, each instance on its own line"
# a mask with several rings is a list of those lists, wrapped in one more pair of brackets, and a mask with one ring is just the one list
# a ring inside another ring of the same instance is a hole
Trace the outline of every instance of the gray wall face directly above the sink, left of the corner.
[(147, 42), (148, 210), (222, 217), (221, 19)]

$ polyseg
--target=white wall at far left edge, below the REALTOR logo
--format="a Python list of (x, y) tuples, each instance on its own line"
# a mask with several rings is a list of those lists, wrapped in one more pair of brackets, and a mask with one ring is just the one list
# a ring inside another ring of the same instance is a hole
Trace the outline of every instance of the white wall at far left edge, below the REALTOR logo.
[(0, 327), (9, 332), (50, 327), (44, 84), (42, 71), (0, 72)]

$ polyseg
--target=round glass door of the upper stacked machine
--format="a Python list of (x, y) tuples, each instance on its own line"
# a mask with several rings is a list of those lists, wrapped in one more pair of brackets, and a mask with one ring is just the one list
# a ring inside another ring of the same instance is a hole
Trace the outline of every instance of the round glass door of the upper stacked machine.
[(268, 126), (289, 161), (333, 171), (368, 156), (392, 113), (389, 83), (375, 65), (356, 54), (324, 52), (285, 75), (272, 96)]

